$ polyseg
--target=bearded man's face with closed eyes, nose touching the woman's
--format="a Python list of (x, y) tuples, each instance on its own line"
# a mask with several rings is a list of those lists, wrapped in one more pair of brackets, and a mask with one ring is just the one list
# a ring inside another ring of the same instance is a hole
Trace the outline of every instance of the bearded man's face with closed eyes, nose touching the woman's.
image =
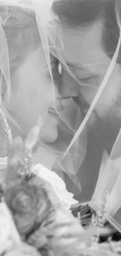
[[(102, 24), (95, 23), (85, 31), (61, 28), (60, 33), (62, 55), (69, 69), (62, 65), (60, 93), (73, 97), (85, 116), (111, 63), (102, 49)], [(95, 105), (90, 126), (110, 139), (121, 127), (121, 66), (117, 63)]]

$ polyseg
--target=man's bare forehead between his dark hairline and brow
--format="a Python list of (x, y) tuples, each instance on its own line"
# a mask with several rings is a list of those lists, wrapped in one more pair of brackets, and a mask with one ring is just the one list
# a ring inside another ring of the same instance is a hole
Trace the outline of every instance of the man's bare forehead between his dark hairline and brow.
[[(95, 23), (88, 29), (80, 31), (61, 29), (61, 54), (70, 67), (88, 69), (95, 63), (109, 62), (102, 49), (102, 24)], [(99, 65), (100, 66), (100, 65)]]

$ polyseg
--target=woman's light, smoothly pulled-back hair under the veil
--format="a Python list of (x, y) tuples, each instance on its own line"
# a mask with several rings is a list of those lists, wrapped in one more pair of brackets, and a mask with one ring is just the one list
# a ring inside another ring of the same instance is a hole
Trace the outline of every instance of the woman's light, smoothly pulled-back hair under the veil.
[(40, 44), (34, 11), (0, 6), (0, 17), (9, 49), (10, 71), (14, 71)]

